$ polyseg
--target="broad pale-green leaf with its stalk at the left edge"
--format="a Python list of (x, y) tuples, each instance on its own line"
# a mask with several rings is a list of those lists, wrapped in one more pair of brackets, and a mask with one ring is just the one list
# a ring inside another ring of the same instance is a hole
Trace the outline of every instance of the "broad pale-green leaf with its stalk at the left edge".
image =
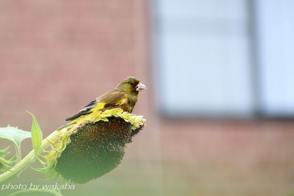
[(20, 144), (21, 141), (31, 137), (31, 133), (18, 129), (17, 127), (0, 127), (0, 138), (8, 139), (14, 144), (15, 151), (17, 154), (17, 162), (21, 160)]

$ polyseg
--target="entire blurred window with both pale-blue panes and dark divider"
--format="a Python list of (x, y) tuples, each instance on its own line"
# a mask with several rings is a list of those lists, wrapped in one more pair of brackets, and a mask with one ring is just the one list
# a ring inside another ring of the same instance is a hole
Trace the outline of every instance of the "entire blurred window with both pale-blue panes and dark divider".
[(294, 6), (271, 2), (154, 1), (160, 111), (208, 117), (294, 114)]

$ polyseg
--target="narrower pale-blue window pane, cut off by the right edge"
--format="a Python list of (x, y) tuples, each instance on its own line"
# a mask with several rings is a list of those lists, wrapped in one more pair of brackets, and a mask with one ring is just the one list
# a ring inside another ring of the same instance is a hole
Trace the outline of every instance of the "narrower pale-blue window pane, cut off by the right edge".
[(256, 1), (262, 112), (294, 115), (294, 1)]

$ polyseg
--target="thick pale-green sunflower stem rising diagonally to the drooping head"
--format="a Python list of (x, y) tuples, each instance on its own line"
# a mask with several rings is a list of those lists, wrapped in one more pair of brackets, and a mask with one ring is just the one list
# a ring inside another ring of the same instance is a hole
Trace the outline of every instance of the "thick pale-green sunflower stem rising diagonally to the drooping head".
[[(49, 146), (49, 144), (50, 144), (49, 141), (55, 141), (58, 138), (59, 138), (59, 136), (56, 134), (56, 131), (51, 133), (48, 137), (43, 139), (42, 144), (41, 144), (41, 148), (39, 149), (39, 152), (37, 152), (37, 153), (40, 153), (42, 151), (42, 149), (45, 149), (47, 146)], [(10, 169), (10, 171), (6, 171), (3, 174), (1, 174), (0, 175), (0, 185), (3, 185), (4, 183), (8, 182), (9, 180), (11, 180), (13, 178), (19, 177), (19, 174), (28, 165), (30, 165), (32, 162), (34, 162), (36, 160), (35, 156), (37, 156), (37, 155), (35, 155), (35, 151), (32, 150), (18, 164), (16, 164), (14, 167), (12, 167)]]

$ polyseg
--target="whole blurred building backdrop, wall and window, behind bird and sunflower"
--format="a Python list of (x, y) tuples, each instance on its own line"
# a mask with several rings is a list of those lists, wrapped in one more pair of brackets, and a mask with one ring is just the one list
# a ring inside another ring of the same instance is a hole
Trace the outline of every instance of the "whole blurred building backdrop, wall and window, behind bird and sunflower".
[[(64, 195), (292, 195), (293, 12), (292, 0), (0, 0), (0, 126), (30, 131), (28, 110), (45, 137), (134, 76), (147, 126), (115, 170)], [(11, 184), (55, 184), (40, 179), (27, 168)]]

